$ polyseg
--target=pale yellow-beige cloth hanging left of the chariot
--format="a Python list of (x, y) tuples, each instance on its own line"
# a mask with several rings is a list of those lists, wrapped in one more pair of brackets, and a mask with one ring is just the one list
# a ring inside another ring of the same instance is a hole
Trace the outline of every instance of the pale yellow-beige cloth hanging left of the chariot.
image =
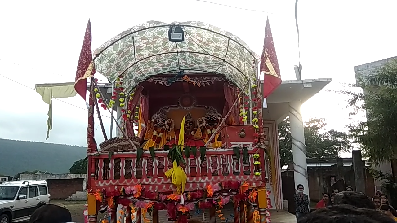
[(36, 84), (35, 90), (39, 93), (43, 101), (48, 104), (47, 136), (52, 130), (52, 98), (70, 98), (76, 96), (74, 82), (56, 84)]

